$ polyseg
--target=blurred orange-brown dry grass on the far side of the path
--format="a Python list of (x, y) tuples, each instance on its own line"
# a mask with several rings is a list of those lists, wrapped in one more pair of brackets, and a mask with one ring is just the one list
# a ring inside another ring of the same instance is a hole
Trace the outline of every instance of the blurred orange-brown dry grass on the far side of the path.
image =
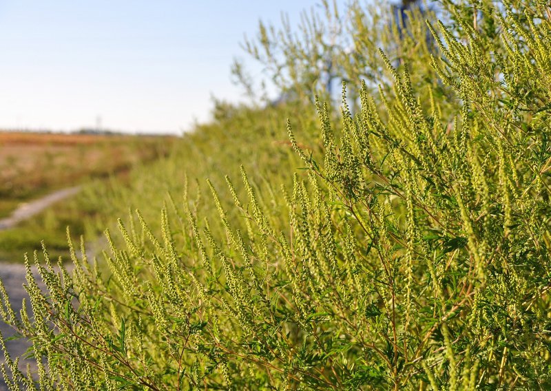
[[(0, 197), (26, 200), (167, 154), (175, 138), (0, 132)], [(0, 216), (9, 213), (0, 207)]]

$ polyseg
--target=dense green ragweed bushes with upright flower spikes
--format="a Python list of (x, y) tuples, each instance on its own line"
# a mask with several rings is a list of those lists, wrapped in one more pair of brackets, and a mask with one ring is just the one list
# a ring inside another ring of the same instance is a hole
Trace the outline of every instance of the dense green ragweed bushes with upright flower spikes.
[[(32, 315), (6, 297), (1, 315), (32, 341), (41, 388), (551, 388), (551, 10), (441, 12), (437, 47), (379, 50), (355, 112), (346, 87), (339, 123), (316, 99), (318, 134), (301, 100), (218, 104), (112, 189), (132, 212), (105, 232), (107, 266), (35, 254), (48, 293), (28, 262)], [(407, 28), (424, 36), (420, 17)], [(366, 45), (412, 44), (355, 26)], [(10, 357), (3, 374), (34, 386)]]

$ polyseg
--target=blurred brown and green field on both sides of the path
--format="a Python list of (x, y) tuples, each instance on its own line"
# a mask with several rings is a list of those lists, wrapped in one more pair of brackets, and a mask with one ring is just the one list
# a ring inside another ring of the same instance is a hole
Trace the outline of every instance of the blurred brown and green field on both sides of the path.
[(0, 260), (19, 262), (25, 252), (53, 242), (53, 255), (65, 253), (64, 231), (85, 231), (94, 208), (87, 187), (107, 178), (125, 180), (136, 165), (167, 156), (178, 140), (169, 136), (110, 136), (0, 132), (0, 218), (19, 205), (57, 189), (84, 184), (72, 199), (54, 204), (12, 229), (0, 231)]

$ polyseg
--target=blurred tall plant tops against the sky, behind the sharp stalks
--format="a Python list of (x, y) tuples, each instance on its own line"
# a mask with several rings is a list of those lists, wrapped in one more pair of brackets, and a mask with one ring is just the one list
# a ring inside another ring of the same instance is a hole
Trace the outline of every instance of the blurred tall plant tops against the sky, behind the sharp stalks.
[[(308, 101), (315, 95), (340, 101), (335, 83), (346, 81), (349, 100), (355, 102), (355, 85), (364, 80), (376, 86), (382, 81), (385, 65), (379, 48), (395, 65), (401, 61), (415, 65), (427, 50), (434, 50), (433, 45), (418, 45), (419, 41), (430, 43), (424, 19), (435, 20), (433, 11), (422, 8), (418, 0), (401, 0), (391, 6), (386, 1), (371, 6), (356, 1), (345, 12), (335, 1), (322, 1), (318, 8), (302, 14), (296, 28), (285, 15), (281, 28), (260, 21), (256, 37), (245, 39), (242, 46), (263, 65), (264, 74), (278, 91), (275, 101)], [(408, 39), (402, 39), (404, 29), (408, 29)], [(253, 96), (257, 89), (243, 64), (236, 63), (232, 72), (247, 95)], [(386, 81), (392, 78), (391, 74), (385, 76)]]

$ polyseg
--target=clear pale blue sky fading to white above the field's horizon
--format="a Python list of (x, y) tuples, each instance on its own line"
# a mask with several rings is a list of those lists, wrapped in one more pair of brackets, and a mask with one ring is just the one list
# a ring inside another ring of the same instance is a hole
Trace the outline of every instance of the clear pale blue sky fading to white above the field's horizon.
[[(0, 0), (0, 129), (181, 133), (211, 95), (237, 101), (234, 57), (258, 19), (315, 0)], [(344, 3), (340, 1), (340, 3)]]

